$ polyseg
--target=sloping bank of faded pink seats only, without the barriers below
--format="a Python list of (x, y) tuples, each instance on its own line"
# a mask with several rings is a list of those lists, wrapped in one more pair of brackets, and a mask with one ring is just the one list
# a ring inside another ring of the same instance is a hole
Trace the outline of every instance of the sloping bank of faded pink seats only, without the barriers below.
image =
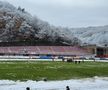
[(86, 49), (76, 46), (10, 46), (0, 47), (6, 54), (52, 54), (52, 55), (89, 55)]

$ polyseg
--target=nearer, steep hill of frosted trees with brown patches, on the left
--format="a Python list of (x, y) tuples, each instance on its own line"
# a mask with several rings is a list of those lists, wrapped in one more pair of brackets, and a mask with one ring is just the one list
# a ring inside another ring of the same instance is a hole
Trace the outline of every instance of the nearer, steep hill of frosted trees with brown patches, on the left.
[(0, 1), (0, 45), (79, 45), (68, 28), (33, 17), (24, 8)]

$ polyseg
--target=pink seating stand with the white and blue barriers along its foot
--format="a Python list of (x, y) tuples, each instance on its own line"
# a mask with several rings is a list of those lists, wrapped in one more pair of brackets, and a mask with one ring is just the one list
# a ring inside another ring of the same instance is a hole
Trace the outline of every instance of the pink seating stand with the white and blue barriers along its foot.
[(62, 59), (92, 55), (78, 46), (1, 46), (0, 58)]

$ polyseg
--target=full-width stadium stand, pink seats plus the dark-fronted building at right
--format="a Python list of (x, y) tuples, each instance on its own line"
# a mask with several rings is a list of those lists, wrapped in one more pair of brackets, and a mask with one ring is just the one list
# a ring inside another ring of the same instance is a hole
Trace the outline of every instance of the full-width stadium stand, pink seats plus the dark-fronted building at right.
[[(14, 45), (15, 44), (15, 45)], [(54, 46), (43, 44), (21, 44), (0, 42), (0, 59), (68, 59), (68, 58), (108, 58), (108, 47), (96, 45)]]

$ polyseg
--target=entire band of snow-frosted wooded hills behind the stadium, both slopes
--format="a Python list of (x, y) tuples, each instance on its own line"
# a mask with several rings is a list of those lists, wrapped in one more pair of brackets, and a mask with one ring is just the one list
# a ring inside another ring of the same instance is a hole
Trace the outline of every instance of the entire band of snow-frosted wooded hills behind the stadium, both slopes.
[(108, 45), (108, 25), (87, 28), (51, 26), (24, 8), (0, 1), (0, 45)]

